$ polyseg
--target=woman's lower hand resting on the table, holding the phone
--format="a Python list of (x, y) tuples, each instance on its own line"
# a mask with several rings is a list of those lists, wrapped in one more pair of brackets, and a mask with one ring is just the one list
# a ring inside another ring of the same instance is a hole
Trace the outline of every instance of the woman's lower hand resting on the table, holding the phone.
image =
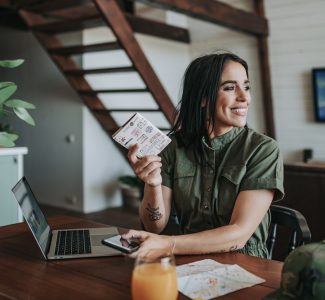
[(147, 257), (155, 259), (172, 253), (174, 238), (167, 235), (158, 235), (147, 231), (129, 230), (122, 235), (123, 239), (137, 239), (140, 247), (129, 254), (129, 257)]

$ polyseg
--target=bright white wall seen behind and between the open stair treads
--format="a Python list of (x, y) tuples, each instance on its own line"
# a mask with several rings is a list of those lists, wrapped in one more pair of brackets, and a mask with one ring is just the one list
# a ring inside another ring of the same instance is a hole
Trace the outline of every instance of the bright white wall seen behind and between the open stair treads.
[[(178, 102), (179, 87), (184, 70), (189, 62), (188, 45), (136, 34), (147, 59), (166, 88), (175, 105)], [(111, 31), (97, 28), (84, 31), (84, 44), (115, 40)], [(103, 51), (83, 56), (83, 67), (105, 68), (129, 66), (130, 60), (122, 50)], [(108, 74), (87, 76), (94, 89), (101, 88), (144, 88), (145, 84), (135, 72), (127, 74)], [(101, 94), (107, 108), (157, 108), (149, 93)], [(113, 113), (122, 125), (133, 113)], [(161, 113), (143, 113), (159, 127), (169, 127)], [(133, 174), (130, 166), (118, 152), (113, 142), (106, 136), (94, 117), (84, 109), (83, 119), (83, 187), (84, 211), (96, 211), (106, 207), (121, 205), (121, 195), (117, 178)]]

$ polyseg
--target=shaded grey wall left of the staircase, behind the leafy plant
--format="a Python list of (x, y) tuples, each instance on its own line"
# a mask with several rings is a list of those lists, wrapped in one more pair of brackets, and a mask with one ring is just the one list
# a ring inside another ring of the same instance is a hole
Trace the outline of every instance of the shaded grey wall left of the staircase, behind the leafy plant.
[[(11, 121), (20, 135), (17, 145), (28, 147), (25, 175), (41, 202), (82, 210), (83, 105), (30, 32), (0, 27), (0, 36), (0, 59), (25, 59), (19, 68), (1, 68), (0, 81), (16, 82), (14, 98), (36, 106), (31, 111), (35, 127), (17, 118)], [(80, 42), (81, 37), (69, 39)], [(66, 141), (70, 134), (74, 143)], [(74, 205), (69, 204), (72, 198)]]

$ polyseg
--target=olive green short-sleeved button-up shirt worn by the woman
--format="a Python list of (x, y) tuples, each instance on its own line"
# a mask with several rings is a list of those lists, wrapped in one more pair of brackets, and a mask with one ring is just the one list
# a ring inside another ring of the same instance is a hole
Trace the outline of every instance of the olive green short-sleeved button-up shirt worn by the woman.
[[(197, 163), (193, 148), (172, 137), (161, 153), (162, 184), (173, 190), (173, 204), (184, 234), (230, 223), (240, 191), (271, 189), (274, 201), (283, 198), (283, 161), (273, 139), (249, 128), (233, 128), (208, 145)], [(268, 212), (240, 252), (267, 257)]]

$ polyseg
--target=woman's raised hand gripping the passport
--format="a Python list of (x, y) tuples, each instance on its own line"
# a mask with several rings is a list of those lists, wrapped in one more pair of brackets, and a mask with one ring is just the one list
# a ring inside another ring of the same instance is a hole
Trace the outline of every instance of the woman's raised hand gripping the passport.
[(137, 157), (139, 146), (133, 145), (128, 152), (128, 159), (131, 162), (134, 173), (146, 184), (156, 187), (161, 185), (161, 158), (158, 155)]

